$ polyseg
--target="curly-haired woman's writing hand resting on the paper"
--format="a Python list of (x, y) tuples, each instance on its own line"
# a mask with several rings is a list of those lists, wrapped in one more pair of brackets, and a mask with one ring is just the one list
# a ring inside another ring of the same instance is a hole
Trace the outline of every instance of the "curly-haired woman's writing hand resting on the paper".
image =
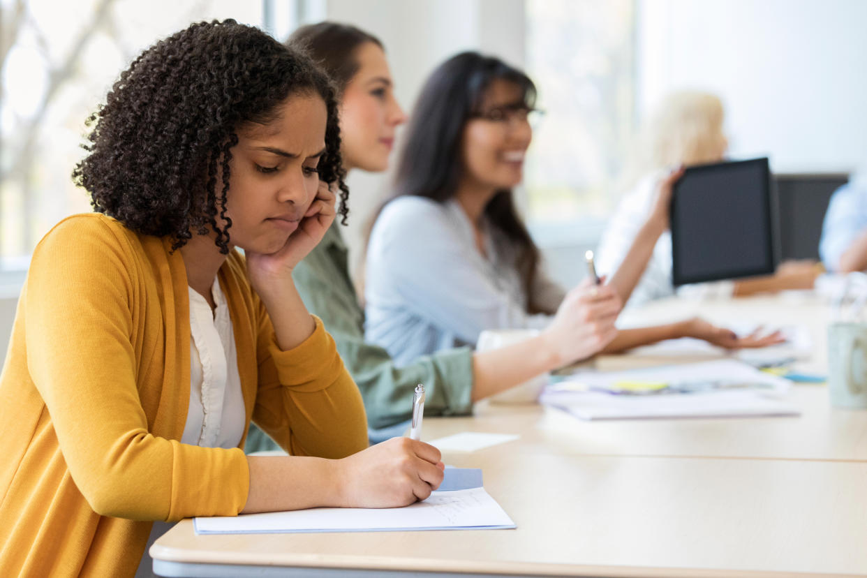
[(396, 508), (427, 499), (440, 487), (440, 450), (410, 438), (391, 438), (337, 462), (340, 505)]

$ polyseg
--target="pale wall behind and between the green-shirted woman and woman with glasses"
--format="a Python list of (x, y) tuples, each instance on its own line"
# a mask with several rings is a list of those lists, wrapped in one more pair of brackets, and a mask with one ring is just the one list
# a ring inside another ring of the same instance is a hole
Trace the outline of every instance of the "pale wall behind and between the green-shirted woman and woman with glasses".
[[(462, 50), (492, 53), (518, 66), (524, 63), (523, 0), (328, 0), (327, 17), (354, 24), (382, 41), (395, 94), (407, 113), (433, 68)], [(400, 139), (399, 131), (395, 150)], [(349, 175), (352, 214), (347, 241), (353, 270), (362, 232), (388, 194), (390, 182), (389, 173)]]

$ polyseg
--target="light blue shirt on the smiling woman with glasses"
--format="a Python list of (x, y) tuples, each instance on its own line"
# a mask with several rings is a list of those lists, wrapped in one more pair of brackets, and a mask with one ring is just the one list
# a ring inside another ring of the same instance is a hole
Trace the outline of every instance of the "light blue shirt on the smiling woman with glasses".
[[(448, 347), (475, 345), (495, 328), (544, 328), (551, 315), (527, 313), (527, 295), (505, 235), (484, 227), (486, 256), (457, 201), (390, 202), (376, 219), (365, 270), (367, 341), (398, 364)], [(564, 291), (542, 274), (531, 291), (555, 311)]]

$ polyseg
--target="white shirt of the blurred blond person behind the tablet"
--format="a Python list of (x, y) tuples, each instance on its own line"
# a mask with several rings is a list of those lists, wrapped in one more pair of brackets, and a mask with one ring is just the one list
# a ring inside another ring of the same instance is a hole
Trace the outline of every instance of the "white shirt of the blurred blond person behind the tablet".
[[(596, 250), (596, 270), (599, 275), (607, 275), (611, 278), (623, 263), (638, 231), (647, 221), (655, 199), (656, 184), (662, 176), (662, 172), (655, 172), (640, 180), (635, 189), (624, 196), (617, 205)], [(722, 298), (733, 294), (732, 281), (682, 285), (675, 291), (675, 285), (671, 280), (671, 260), (671, 232), (665, 231), (656, 241), (648, 266), (629, 297), (627, 303), (629, 307), (653, 299), (669, 297), (675, 293), (698, 298)]]

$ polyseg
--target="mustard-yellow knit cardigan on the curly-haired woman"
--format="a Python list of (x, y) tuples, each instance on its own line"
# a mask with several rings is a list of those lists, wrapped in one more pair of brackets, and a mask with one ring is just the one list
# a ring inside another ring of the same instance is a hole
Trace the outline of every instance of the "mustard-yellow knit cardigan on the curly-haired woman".
[[(170, 246), (90, 214), (36, 247), (0, 374), (0, 575), (134, 575), (153, 520), (243, 509), (244, 452), (179, 442), (190, 315)], [(248, 424), (296, 455), (367, 447), (361, 395), (322, 322), (281, 351), (243, 258), (218, 277)]]

